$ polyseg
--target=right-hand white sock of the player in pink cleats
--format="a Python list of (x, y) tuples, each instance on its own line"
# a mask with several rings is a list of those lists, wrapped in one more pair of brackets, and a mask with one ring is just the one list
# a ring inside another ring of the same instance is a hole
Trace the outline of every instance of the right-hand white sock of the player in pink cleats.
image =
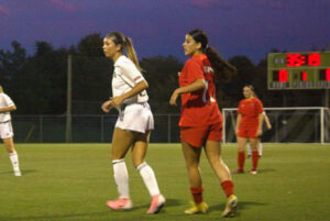
[(158, 184), (154, 170), (144, 162), (138, 166), (138, 170), (151, 196), (160, 194)]

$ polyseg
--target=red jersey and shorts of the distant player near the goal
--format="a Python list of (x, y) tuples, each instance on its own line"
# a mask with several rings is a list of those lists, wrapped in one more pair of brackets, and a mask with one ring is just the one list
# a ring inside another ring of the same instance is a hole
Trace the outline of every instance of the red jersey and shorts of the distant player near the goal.
[(238, 136), (255, 139), (258, 126), (258, 114), (263, 111), (263, 103), (257, 98), (241, 100), (238, 112), (242, 118)]

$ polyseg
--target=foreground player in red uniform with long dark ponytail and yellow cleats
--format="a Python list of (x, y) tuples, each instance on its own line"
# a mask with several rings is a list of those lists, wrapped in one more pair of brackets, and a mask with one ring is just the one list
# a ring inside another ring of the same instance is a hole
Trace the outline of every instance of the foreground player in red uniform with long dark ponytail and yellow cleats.
[(215, 77), (228, 80), (237, 71), (216, 49), (208, 46), (208, 37), (200, 30), (186, 34), (183, 44), (185, 55), (190, 56), (182, 73), (179, 88), (169, 100), (176, 104), (182, 98), (179, 120), (182, 150), (186, 159), (190, 192), (195, 205), (185, 211), (187, 214), (207, 212), (208, 206), (202, 199), (202, 180), (199, 169), (201, 150), (221, 183), (228, 199), (222, 217), (234, 217), (238, 198), (230, 170), (221, 158), (222, 115), (216, 100)]

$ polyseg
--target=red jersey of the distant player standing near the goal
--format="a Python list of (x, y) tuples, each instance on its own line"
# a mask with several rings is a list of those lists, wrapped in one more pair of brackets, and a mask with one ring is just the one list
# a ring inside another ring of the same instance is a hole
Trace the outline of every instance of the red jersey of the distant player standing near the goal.
[(263, 103), (257, 98), (243, 99), (239, 104), (242, 124), (257, 124), (258, 114), (264, 111)]

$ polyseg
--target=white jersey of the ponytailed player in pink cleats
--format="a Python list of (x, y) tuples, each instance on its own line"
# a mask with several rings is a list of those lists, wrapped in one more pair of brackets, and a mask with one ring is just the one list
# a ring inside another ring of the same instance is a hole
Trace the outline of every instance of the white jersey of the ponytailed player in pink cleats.
[[(114, 70), (112, 76), (112, 96), (121, 96), (130, 91), (135, 85), (144, 80), (144, 77), (136, 68), (134, 63), (127, 56), (120, 56), (114, 63)], [(123, 103), (146, 102), (148, 99), (145, 90), (139, 95), (128, 98)]]

